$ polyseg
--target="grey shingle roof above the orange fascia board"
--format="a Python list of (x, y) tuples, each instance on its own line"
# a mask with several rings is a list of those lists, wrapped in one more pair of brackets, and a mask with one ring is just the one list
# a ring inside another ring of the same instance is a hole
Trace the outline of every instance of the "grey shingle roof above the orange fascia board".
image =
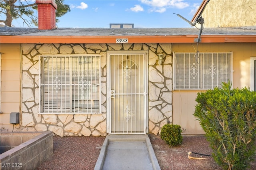
[[(183, 36), (198, 35), (197, 28), (38, 28), (1, 27), (1, 36)], [(256, 26), (245, 28), (204, 28), (202, 35), (256, 35)]]

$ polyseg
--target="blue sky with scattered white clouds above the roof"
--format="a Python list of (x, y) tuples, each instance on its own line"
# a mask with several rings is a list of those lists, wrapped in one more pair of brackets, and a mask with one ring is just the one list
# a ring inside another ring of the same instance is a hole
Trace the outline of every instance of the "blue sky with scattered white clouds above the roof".
[[(59, 18), (59, 28), (109, 28), (109, 24), (134, 24), (134, 28), (188, 28), (180, 14), (191, 20), (202, 0), (64, 0), (70, 12)], [(37, 15), (37, 13), (36, 13)], [(23, 27), (19, 20), (12, 23)]]

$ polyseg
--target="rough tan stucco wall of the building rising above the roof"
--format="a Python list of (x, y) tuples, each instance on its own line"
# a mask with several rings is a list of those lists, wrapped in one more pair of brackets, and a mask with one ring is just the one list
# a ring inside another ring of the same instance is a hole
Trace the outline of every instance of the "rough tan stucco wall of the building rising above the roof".
[(204, 27), (256, 26), (255, 0), (210, 0), (202, 17)]

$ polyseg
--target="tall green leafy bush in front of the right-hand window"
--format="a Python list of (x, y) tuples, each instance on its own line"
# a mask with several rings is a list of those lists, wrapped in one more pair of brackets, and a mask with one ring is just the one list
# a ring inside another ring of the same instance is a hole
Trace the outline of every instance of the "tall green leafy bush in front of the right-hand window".
[(222, 83), (198, 93), (194, 116), (206, 133), (213, 158), (223, 169), (250, 167), (256, 146), (256, 92)]

